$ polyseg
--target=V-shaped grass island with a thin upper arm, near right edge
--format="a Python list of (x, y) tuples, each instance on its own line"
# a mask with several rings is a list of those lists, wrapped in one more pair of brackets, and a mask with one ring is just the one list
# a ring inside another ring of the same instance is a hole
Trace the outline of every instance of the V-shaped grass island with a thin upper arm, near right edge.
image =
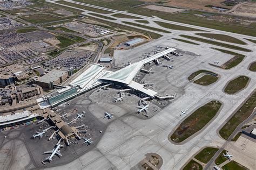
[(219, 49), (219, 48), (212, 48), (212, 49), (218, 50), (218, 51), (226, 53), (226, 54), (234, 55), (234, 58), (232, 58), (231, 60), (224, 63), (223, 67), (221, 67), (221, 68), (224, 68), (224, 69), (231, 69), (231, 68), (237, 66), (245, 58), (245, 55), (238, 54), (238, 53), (228, 51), (228, 50), (225, 50), (225, 49)]

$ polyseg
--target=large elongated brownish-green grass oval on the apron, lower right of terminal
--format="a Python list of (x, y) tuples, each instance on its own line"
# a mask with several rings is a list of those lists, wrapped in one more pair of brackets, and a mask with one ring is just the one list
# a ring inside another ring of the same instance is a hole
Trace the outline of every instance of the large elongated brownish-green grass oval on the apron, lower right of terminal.
[(178, 126), (173, 132), (171, 140), (175, 143), (179, 143), (204, 128), (204, 126), (217, 114), (220, 107), (220, 102), (211, 101), (198, 108)]

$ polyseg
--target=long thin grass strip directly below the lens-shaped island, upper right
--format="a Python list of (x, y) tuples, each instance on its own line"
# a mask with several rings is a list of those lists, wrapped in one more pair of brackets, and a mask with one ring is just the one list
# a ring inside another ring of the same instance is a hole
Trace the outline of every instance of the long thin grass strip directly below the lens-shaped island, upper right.
[(193, 36), (186, 36), (186, 35), (183, 35), (183, 34), (181, 34), (180, 37), (192, 39), (192, 40), (195, 40), (195, 41), (205, 42), (205, 43), (208, 43), (208, 44), (217, 45), (217, 46), (221, 46), (221, 47), (237, 49), (239, 51), (252, 52), (250, 49), (246, 49), (246, 48), (242, 48), (242, 47), (234, 46), (234, 45), (230, 45), (230, 44), (224, 44), (222, 42), (207, 40), (207, 39), (204, 39), (204, 38), (198, 38), (198, 37), (193, 37)]

